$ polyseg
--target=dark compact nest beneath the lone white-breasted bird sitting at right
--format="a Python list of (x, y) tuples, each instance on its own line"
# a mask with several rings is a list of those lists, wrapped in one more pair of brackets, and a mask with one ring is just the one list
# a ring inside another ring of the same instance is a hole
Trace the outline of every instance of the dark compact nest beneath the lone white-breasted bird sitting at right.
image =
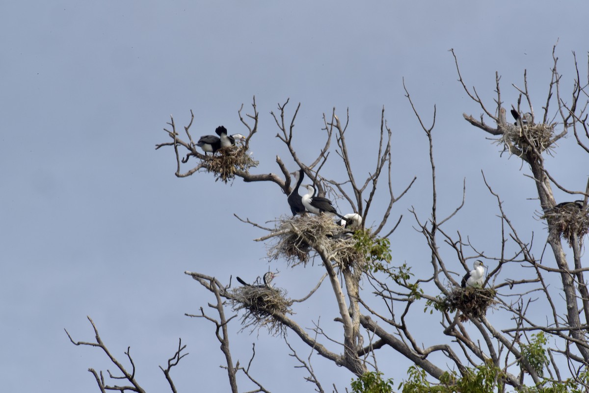
[(481, 318), (487, 314), (487, 308), (496, 303), (495, 289), (492, 288), (461, 288), (454, 287), (443, 301), (442, 308), (448, 312), (461, 311), (460, 321), (468, 321), (469, 317)]

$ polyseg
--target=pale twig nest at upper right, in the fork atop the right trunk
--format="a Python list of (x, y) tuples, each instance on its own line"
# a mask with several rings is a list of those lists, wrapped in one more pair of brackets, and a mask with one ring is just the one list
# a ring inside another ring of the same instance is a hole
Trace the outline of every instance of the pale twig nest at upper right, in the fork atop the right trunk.
[(554, 126), (549, 124), (534, 124), (519, 126), (509, 124), (502, 128), (503, 135), (497, 139), (505, 145), (515, 145), (522, 152), (527, 153), (536, 148), (540, 153), (551, 148), (550, 141), (554, 135)]

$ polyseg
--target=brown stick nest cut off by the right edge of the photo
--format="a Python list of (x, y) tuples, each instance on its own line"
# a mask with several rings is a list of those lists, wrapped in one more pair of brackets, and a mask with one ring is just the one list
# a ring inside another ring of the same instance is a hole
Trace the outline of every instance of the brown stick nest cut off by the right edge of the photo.
[(542, 218), (548, 220), (558, 237), (567, 239), (568, 245), (573, 247), (574, 235), (579, 241), (589, 232), (589, 212), (581, 210), (575, 204), (555, 207)]

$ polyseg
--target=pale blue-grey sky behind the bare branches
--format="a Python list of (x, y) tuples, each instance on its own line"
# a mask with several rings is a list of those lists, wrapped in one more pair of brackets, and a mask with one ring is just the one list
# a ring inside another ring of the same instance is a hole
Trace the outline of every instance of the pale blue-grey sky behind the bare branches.
[[(462, 119), (463, 112), (481, 110), (456, 82), (448, 49), (455, 49), (467, 84), (476, 85), (489, 106), (495, 71), (502, 75), (502, 98), (509, 107), (517, 99), (511, 83), (522, 85), (527, 68), (540, 111), (557, 40), (564, 88), (572, 86), (571, 51), (585, 70), (589, 28), (574, 16), (587, 11), (586, 1), (5, 2), (0, 6), (2, 389), (98, 391), (87, 369), (112, 370), (112, 365), (95, 349), (71, 345), (63, 330), (90, 341), (90, 315), (120, 360), (131, 347), (138, 380), (148, 390), (166, 391), (157, 366), (171, 357), (181, 337), (190, 355), (173, 371), (179, 391), (193, 391), (196, 383), (199, 391), (228, 391), (211, 325), (184, 317), (211, 297), (183, 272), (226, 282), (231, 274), (262, 274), (269, 268), (266, 248), (252, 242), (261, 232), (237, 222), (233, 213), (265, 222), (289, 214), (289, 207), (276, 186), (240, 181), (229, 186), (206, 174), (176, 178), (173, 150), (154, 150), (167, 141), (162, 128), (170, 114), (183, 126), (193, 109), (196, 136), (211, 134), (220, 124), (245, 134), (237, 110), (243, 103), (250, 112), (255, 95), (260, 131), (251, 147), (260, 161), (254, 172), (260, 173), (278, 170), (276, 154), (292, 166), (274, 138), (269, 112), (277, 103), (290, 97), (291, 114), (302, 103), (295, 145), (303, 161), (318, 152), (312, 135), (323, 126), (322, 114), (335, 106), (343, 117), (349, 108), (352, 157), (365, 176), (384, 105), (396, 141), (396, 192), (418, 176), (393, 208), (395, 221), (404, 215), (391, 238), (393, 260), (419, 269), (428, 250), (407, 209), (413, 205), (421, 217), (428, 216), (431, 181), (426, 138), (403, 97), (404, 77), (425, 119), (434, 104), (438, 109), (440, 214), (460, 203), (466, 178), (465, 211), (452, 225), (489, 252), (497, 247), (496, 211), (484, 208), (494, 206), (494, 199), (482, 183), (483, 170), (502, 193), (508, 214), (520, 218), (522, 233), (538, 231), (540, 254), (544, 225), (532, 218), (537, 201), (525, 199), (534, 197), (534, 185), (524, 177), (527, 168), (520, 171), (515, 157), (499, 158), (499, 148)], [(548, 159), (550, 169), (569, 188), (583, 188), (586, 156), (575, 155), (573, 138), (560, 146), (565, 152)], [(330, 160), (325, 174), (337, 178), (335, 154)], [(322, 274), (317, 265), (287, 269), (272, 262), (270, 267), (281, 271), (276, 285), (293, 298), (306, 294)], [(335, 312), (320, 304), (333, 295), (323, 289), (297, 309), (303, 326), (312, 327), (319, 314), (332, 324)], [(294, 335), (289, 339), (298, 344)], [(234, 338), (234, 359), (246, 362), (252, 342), (257, 343), (254, 374), (267, 388), (312, 389), (284, 355), (283, 342), (264, 331)], [(307, 351), (302, 353), (306, 357)], [(313, 361), (324, 386), (336, 382), (340, 391), (349, 386), (348, 371), (318, 357)], [(379, 358), (395, 382), (408, 365), (391, 351)]]

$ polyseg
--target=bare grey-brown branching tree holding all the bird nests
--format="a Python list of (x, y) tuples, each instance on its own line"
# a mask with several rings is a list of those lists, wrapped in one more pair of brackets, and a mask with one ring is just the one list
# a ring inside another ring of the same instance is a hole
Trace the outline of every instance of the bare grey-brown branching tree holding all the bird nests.
[[(497, 201), (495, 212), (489, 211), (489, 214), (497, 214), (501, 219), (501, 242), (497, 252), (483, 252), (477, 244), (469, 240), (468, 235), (465, 236), (460, 231), (453, 234), (446, 229), (448, 222), (461, 211), (464, 196), (462, 204), (454, 208), (451, 214), (439, 217), (439, 187), (436, 182), (432, 138), (436, 108), (434, 106), (431, 119), (423, 118), (405, 87), (409, 105), (428, 139), (431, 212), (426, 215), (416, 209), (411, 209), (410, 212), (415, 220), (413, 227), (422, 234), (425, 244), (431, 250), (431, 269), (415, 272), (404, 264), (393, 265), (388, 238), (393, 235), (402, 217), (391, 220), (391, 209), (411, 188), (415, 178), (409, 184), (401, 186), (394, 184), (392, 180), (395, 169), (391, 160), (392, 131), (386, 121), (385, 109), (381, 112), (378, 142), (375, 141), (373, 169), (366, 178), (359, 179), (352, 170), (353, 162), (346, 144), (349, 112), (342, 116), (345, 121), (340, 120), (335, 108), (329, 115), (323, 115), (322, 136), (325, 142), (318, 149), (316, 158), (305, 163), (299, 158), (293, 144), (296, 137), (294, 124), (300, 104), (289, 112), (287, 100), (278, 105), (276, 113), (271, 112), (278, 129), (276, 136), (283, 142), (284, 150), (316, 186), (320, 196), (340, 196), (353, 212), (363, 218), (363, 222), (361, 228), (350, 230), (337, 225), (327, 215), (303, 214), (292, 218), (281, 217), (274, 227), (266, 227), (236, 215), (241, 221), (266, 231), (256, 241), (267, 242), (269, 257), (278, 261), (277, 263), (305, 268), (311, 258), (320, 261), (325, 274), (302, 299), (287, 298), (286, 292), (267, 282), (263, 285), (243, 284), (233, 287), (230, 282), (223, 284), (206, 273), (186, 272), (215, 299), (209, 304), (209, 308), (214, 310), (213, 315), (207, 314), (203, 308), (200, 308), (199, 314), (187, 315), (204, 318), (214, 325), (214, 334), (226, 359), (223, 367), (227, 370), (231, 391), (239, 391), (236, 379), (239, 372), (256, 386), (254, 391), (268, 391), (263, 381), (258, 381), (250, 372), (255, 351), (252, 351), (247, 367), (241, 366), (239, 361), (234, 362), (231, 357), (227, 325), (234, 321), (241, 321), (244, 328), (266, 328), (269, 334), (277, 336), (283, 336), (286, 332), (293, 333), (300, 342), (309, 347), (311, 354), (317, 354), (349, 369), (358, 378), (372, 372), (377, 372), (372, 375), (380, 375), (377, 362), (379, 354), (382, 349), (392, 349), (416, 367), (409, 371), (409, 378), (403, 387), (405, 392), (423, 391), (417, 388), (430, 385), (439, 385), (439, 391), (456, 391), (457, 387), (468, 389), (469, 386), (472, 388), (482, 384), (481, 381), (487, 384), (487, 391), (506, 391), (508, 387), (533, 391), (555, 384), (584, 390), (588, 388), (589, 295), (584, 272), (589, 268), (584, 268), (581, 264), (581, 249), (583, 237), (589, 228), (589, 182), (585, 185), (583, 180), (583, 189), (577, 185), (576, 191), (565, 188), (551, 175), (544, 156), (557, 149), (556, 142), (571, 129), (579, 148), (589, 153), (585, 112), (589, 102), (589, 76), (587, 81), (581, 82), (575, 57), (576, 77), (573, 91), (565, 99), (561, 91), (562, 77), (557, 71), (558, 58), (553, 51), (552, 79), (548, 85), (547, 99), (542, 103), (542, 114), (535, 112), (532, 106), (527, 73), (524, 72), (522, 88), (512, 85), (519, 93), (517, 105), (514, 104), (511, 108), (514, 124), (507, 120), (507, 109), (501, 101), (499, 75), (496, 74), (496, 98), (494, 104), (489, 106), (483, 102), (475, 88), (468, 88), (453, 50), (452, 55), (459, 82), (466, 94), (482, 110), (478, 118), (464, 114), (466, 121), (491, 135), (495, 143), (502, 146), (501, 155), (515, 156), (530, 168), (527, 176), (537, 189), (539, 217), (547, 223), (545, 242), (552, 250), (554, 262), (547, 253), (542, 252), (540, 257), (535, 255), (534, 238), (518, 233), (517, 223), (509, 219), (501, 196), (487, 182), (484, 174), (482, 176), (488, 192)], [(178, 177), (211, 172), (217, 179), (225, 182), (234, 178), (241, 178), (246, 182), (272, 182), (285, 195), (289, 195), (293, 189), (290, 170), (280, 156), (276, 156), (278, 174), (252, 173), (257, 162), (249, 152), (249, 145), (255, 141), (259, 125), (255, 98), (251, 111), (245, 118), (242, 114), (243, 105), (238, 111), (240, 121), (247, 129), (243, 141), (221, 148), (214, 155), (206, 156), (197, 150), (198, 143), (194, 142), (190, 132), (194, 120), (192, 112), (183, 135), (171, 118), (169, 127), (164, 129), (170, 140), (158, 144), (156, 148), (173, 147)], [(344, 169), (342, 173), (345, 174), (343, 178), (330, 179), (320, 174), (328, 158), (340, 162)], [(197, 163), (190, 166), (190, 162), (195, 159)], [(189, 169), (183, 169), (187, 165)], [(577, 195), (577, 202), (558, 204), (552, 193), (554, 186), (567, 194)], [(465, 186), (463, 195), (464, 191)], [(365, 228), (376, 201), (384, 206), (383, 214), (373, 219), (375, 224), (372, 227)], [(286, 197), (284, 202), (286, 207)], [(541, 240), (543, 241), (544, 239)], [(572, 259), (566, 257), (567, 247), (573, 250)], [(484, 261), (488, 266), (485, 283), (482, 288), (461, 288), (451, 266), (458, 260), (468, 272), (475, 259)], [(502, 269), (513, 265), (525, 270), (525, 274), (521, 279), (501, 281)], [(554, 282), (553, 277), (558, 278), (560, 288), (548, 284)], [(328, 279), (336, 300), (335, 321), (341, 325), (339, 337), (330, 337), (318, 323), (309, 332), (292, 314), (293, 304), (309, 301), (324, 278)], [(360, 286), (362, 280), (368, 283), (366, 288)], [(548, 312), (542, 315), (530, 312), (530, 307), (535, 302), (540, 302)], [(440, 335), (436, 337), (441, 338), (439, 342), (428, 346), (423, 343), (431, 342), (432, 336), (426, 337), (426, 333), (414, 321), (415, 315), (423, 314), (424, 305), (432, 313), (439, 315)], [(487, 317), (488, 308), (495, 310), (492, 317)], [(502, 321), (501, 324), (498, 321)], [(505, 327), (505, 321), (510, 321), (508, 327)], [(133, 385), (125, 388), (107, 387), (102, 374), (99, 377), (91, 370), (101, 390), (143, 391), (135, 385), (134, 373), (125, 371), (110, 355), (100, 341), (95, 327), (94, 329), (97, 344), (72, 342), (76, 345), (102, 348), (123, 372), (124, 377), (121, 378), (127, 379)], [(550, 345), (547, 345), (548, 342)], [(339, 351), (330, 349), (334, 344), (339, 346)], [(320, 375), (312, 367), (312, 356), (305, 358), (297, 354), (289, 342), (286, 345), (290, 349), (290, 355), (299, 362), (299, 367), (306, 370), (307, 381), (312, 382), (316, 391), (325, 391), (325, 381), (322, 384)], [(169, 371), (184, 356), (180, 355), (182, 349), (184, 348), (179, 346), (174, 357), (168, 361), (167, 371), (162, 368), (173, 391), (175, 388)], [(128, 352), (125, 354), (133, 365)], [(472, 375), (483, 377), (471, 378)], [(111, 375), (111, 378), (115, 377)], [(335, 385), (333, 389), (337, 391)]]

